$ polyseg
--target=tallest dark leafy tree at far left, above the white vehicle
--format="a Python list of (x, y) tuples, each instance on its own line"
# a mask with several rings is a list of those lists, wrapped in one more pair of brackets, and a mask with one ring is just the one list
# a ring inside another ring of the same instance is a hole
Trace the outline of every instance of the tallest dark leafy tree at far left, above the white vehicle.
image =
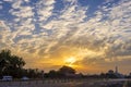
[(24, 65), (25, 61), (17, 55), (12, 55), (10, 50), (2, 50), (0, 52), (0, 75), (17, 77)]

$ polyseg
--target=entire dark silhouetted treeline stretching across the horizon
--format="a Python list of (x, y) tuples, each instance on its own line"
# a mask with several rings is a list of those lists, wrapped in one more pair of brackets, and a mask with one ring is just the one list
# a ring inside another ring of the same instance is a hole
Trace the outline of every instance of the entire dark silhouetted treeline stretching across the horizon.
[(27, 76), (29, 78), (61, 78), (61, 77), (83, 77), (83, 78), (131, 78), (130, 75), (122, 75), (109, 70), (107, 73), (99, 75), (83, 75), (76, 74), (76, 71), (70, 66), (62, 66), (58, 71), (50, 70), (48, 73), (44, 73), (38, 69), (24, 69), (25, 61), (23, 58), (12, 54), (10, 50), (0, 51), (0, 78), (5, 75), (11, 75), (14, 78), (21, 78)]

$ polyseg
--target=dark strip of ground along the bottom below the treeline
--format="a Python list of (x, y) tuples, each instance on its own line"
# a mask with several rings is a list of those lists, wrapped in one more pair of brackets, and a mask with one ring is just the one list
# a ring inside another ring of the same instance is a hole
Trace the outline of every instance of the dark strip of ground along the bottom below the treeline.
[(130, 79), (0, 82), (0, 87), (131, 87)]

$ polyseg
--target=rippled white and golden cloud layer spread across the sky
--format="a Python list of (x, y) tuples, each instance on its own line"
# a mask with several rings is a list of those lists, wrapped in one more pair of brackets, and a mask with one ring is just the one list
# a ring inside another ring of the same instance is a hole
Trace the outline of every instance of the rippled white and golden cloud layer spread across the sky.
[(58, 13), (55, 0), (40, 0), (35, 7), (23, 5), (26, 1), (12, 0), (13, 20), (0, 22), (0, 44), (28, 62), (62, 63), (75, 57), (78, 64), (92, 65), (131, 58), (131, 1), (99, 5), (93, 16), (76, 0), (64, 0)]

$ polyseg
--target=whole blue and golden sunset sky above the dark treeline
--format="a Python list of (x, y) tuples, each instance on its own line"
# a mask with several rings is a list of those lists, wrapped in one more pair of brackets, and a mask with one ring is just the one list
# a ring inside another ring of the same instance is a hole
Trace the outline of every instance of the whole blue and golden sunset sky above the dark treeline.
[(0, 50), (26, 69), (131, 72), (131, 0), (0, 0)]

